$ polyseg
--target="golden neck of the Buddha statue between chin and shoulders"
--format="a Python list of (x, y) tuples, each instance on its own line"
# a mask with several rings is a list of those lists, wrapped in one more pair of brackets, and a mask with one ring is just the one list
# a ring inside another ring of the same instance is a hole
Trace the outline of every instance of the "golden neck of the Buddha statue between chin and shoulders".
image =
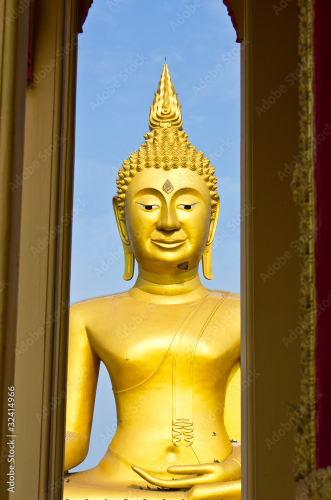
[(129, 294), (137, 300), (157, 304), (181, 304), (200, 300), (207, 294), (197, 267), (180, 274), (156, 274), (139, 266), (139, 273)]

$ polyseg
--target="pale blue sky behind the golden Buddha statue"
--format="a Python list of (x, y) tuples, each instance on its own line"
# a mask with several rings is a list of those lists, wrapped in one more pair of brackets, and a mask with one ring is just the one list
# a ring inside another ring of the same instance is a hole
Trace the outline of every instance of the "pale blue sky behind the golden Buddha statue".
[[(70, 302), (116, 293), (121, 241), (112, 211), (122, 160), (144, 141), (164, 55), (188, 140), (211, 159), (220, 216), (211, 289), (239, 292), (240, 45), (221, 0), (94, 0), (78, 42)], [(200, 273), (202, 276), (202, 272)], [(102, 458), (115, 429), (101, 366), (89, 452)], [(108, 435), (107, 435), (108, 434)]]

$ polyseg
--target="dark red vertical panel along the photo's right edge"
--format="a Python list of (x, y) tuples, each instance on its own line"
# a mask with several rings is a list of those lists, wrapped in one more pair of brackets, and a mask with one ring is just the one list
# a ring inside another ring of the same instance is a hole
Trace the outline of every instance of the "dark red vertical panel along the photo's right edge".
[[(316, 467), (331, 465), (331, 2), (313, 1)], [(320, 394), (320, 396), (319, 396)]]

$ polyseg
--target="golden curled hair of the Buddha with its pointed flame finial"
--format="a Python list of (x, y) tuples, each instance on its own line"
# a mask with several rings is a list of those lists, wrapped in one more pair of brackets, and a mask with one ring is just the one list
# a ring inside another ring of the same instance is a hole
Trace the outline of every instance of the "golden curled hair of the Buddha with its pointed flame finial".
[(196, 151), (187, 141), (187, 134), (182, 130), (180, 104), (166, 63), (150, 106), (148, 124), (150, 131), (144, 135), (145, 142), (123, 161), (118, 170), (117, 200), (121, 219), (124, 220), (125, 192), (137, 172), (144, 168), (156, 168), (164, 173), (185, 168), (200, 175), (207, 183), (213, 220), (218, 198), (214, 167), (209, 165), (210, 160), (203, 156), (202, 151)]

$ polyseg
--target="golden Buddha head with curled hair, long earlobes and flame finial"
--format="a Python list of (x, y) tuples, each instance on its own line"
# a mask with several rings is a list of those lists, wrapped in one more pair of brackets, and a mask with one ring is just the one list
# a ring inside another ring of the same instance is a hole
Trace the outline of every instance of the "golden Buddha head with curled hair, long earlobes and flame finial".
[(113, 207), (124, 249), (124, 279), (134, 259), (146, 271), (180, 274), (197, 267), (212, 279), (211, 245), (219, 198), (214, 167), (187, 141), (180, 104), (164, 64), (149, 132), (118, 171)]

